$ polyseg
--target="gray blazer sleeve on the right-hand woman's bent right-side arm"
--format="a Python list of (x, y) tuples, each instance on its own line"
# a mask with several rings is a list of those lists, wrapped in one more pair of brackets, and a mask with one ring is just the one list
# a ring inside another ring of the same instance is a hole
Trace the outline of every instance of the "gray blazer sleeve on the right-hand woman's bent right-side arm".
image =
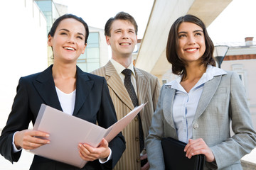
[(218, 169), (233, 164), (235, 160), (240, 160), (245, 154), (250, 153), (256, 145), (255, 130), (252, 127), (245, 89), (236, 73), (233, 73), (230, 78), (230, 105), (228, 110), (235, 135), (219, 145), (210, 147)]

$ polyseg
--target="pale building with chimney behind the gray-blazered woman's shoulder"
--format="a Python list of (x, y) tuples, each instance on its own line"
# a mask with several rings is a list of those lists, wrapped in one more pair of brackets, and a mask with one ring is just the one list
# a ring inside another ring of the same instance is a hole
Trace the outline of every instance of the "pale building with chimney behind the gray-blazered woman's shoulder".
[(229, 46), (221, 68), (237, 72), (245, 86), (252, 121), (256, 129), (256, 42), (245, 38), (245, 42), (226, 43)]

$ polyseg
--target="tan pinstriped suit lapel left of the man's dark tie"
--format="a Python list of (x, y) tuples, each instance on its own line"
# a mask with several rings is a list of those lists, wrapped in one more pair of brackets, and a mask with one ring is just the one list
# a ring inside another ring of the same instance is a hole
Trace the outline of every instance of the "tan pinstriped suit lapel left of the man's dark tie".
[(117, 70), (114, 68), (113, 64), (109, 61), (105, 65), (105, 74), (107, 85), (114, 91), (115, 94), (120, 98), (128, 108), (131, 110), (134, 109), (131, 98), (129, 98), (129, 94), (127, 89), (125, 89), (124, 82), (120, 79), (117, 74)]

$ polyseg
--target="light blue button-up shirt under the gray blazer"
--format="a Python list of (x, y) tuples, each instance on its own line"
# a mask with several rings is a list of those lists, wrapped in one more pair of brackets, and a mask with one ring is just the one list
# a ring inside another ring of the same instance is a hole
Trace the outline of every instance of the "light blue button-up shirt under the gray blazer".
[(176, 80), (166, 84), (171, 85), (171, 88), (176, 89), (172, 113), (178, 140), (188, 143), (188, 140), (193, 138), (192, 123), (194, 115), (196, 114), (198, 101), (203, 92), (203, 86), (207, 81), (213, 79), (214, 76), (223, 74), (227, 74), (223, 69), (219, 69), (208, 64), (206, 72), (188, 93), (180, 84), (182, 75)]

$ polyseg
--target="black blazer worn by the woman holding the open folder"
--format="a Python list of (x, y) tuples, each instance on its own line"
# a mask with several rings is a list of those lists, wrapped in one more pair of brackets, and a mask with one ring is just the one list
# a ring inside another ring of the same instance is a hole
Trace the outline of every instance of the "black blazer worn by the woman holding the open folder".
[[(0, 137), (0, 153), (10, 162), (17, 162), (21, 156), (21, 152), (15, 154), (12, 152), (14, 132), (27, 129), (31, 121), (35, 123), (41, 103), (62, 111), (55, 90), (52, 67), (53, 65), (41, 73), (21, 77), (18, 82), (11, 113)], [(108, 128), (117, 121), (107, 83), (103, 77), (82, 72), (77, 67), (75, 95), (74, 116), (91, 123), (97, 122), (103, 128)], [(98, 160), (88, 162), (82, 169), (112, 169), (125, 149), (125, 141), (121, 133), (109, 143), (109, 147), (112, 149), (112, 160), (105, 164), (100, 164)], [(31, 169), (78, 168), (35, 155)]]

